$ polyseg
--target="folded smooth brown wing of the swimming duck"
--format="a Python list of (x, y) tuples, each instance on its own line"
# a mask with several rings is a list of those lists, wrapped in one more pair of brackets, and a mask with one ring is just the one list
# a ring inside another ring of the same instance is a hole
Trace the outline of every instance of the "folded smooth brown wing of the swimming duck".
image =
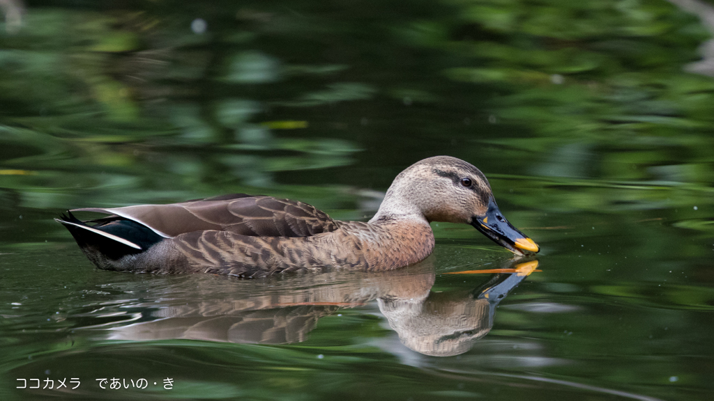
[(203, 230), (223, 230), (259, 237), (308, 237), (338, 228), (330, 216), (307, 203), (244, 193), (168, 205), (81, 208), (71, 211), (111, 215), (95, 220), (98, 223), (119, 216), (146, 225), (166, 238)]

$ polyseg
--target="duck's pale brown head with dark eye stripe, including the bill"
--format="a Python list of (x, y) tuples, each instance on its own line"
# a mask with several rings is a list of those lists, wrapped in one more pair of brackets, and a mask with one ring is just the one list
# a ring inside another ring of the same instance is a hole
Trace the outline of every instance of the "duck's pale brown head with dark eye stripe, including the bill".
[(399, 173), (371, 221), (420, 216), (428, 222), (471, 224), (517, 255), (539, 250), (503, 217), (486, 176), (458, 158), (426, 158)]

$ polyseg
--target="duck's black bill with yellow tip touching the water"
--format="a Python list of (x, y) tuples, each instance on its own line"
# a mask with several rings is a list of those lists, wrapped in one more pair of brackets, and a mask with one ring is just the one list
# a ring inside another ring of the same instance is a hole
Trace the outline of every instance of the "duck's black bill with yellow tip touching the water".
[(498, 210), (496, 201), (491, 198), (488, 202), (488, 211), (486, 215), (473, 216), (471, 225), (476, 230), (481, 231), (483, 235), (491, 238), (493, 242), (503, 246), (515, 253), (516, 255), (525, 255), (526, 253), (537, 253), (540, 248), (538, 244), (533, 242), (531, 238), (526, 237), (517, 228), (513, 227), (508, 220), (503, 217), (501, 210)]

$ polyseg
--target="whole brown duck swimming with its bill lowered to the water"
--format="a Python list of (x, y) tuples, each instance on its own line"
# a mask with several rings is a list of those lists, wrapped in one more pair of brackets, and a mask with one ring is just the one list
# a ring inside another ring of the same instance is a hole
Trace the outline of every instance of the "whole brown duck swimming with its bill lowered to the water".
[[(104, 216), (79, 220), (74, 213)], [(517, 256), (540, 248), (503, 217), (486, 176), (451, 156), (398, 174), (370, 220), (296, 200), (233, 193), (162, 205), (77, 208), (55, 219), (102, 270), (258, 278), (321, 268), (393, 270), (424, 260), (431, 222), (465, 223)]]

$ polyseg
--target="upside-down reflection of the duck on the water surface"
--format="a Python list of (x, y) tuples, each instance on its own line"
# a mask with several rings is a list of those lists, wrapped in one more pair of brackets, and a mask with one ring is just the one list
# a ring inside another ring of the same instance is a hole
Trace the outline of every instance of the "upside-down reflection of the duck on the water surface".
[[(474, 289), (436, 293), (431, 291), (436, 280), (432, 260), (388, 272), (336, 270), (290, 275), (259, 287), (254, 282), (245, 285), (244, 281), (223, 278), (191, 281), (190, 288), (164, 288), (166, 298), (161, 304), (165, 306), (142, 312), (144, 318), (154, 320), (114, 328), (110, 337), (301, 342), (320, 318), (376, 299), (406, 347), (425, 355), (458, 355), (491, 330), (496, 305), (538, 266), (537, 260), (508, 260), (499, 269), (458, 272), (495, 274), (486, 282), (479, 280)], [(216, 280), (221, 282), (216, 285)], [(320, 282), (326, 285), (315, 285)]]

